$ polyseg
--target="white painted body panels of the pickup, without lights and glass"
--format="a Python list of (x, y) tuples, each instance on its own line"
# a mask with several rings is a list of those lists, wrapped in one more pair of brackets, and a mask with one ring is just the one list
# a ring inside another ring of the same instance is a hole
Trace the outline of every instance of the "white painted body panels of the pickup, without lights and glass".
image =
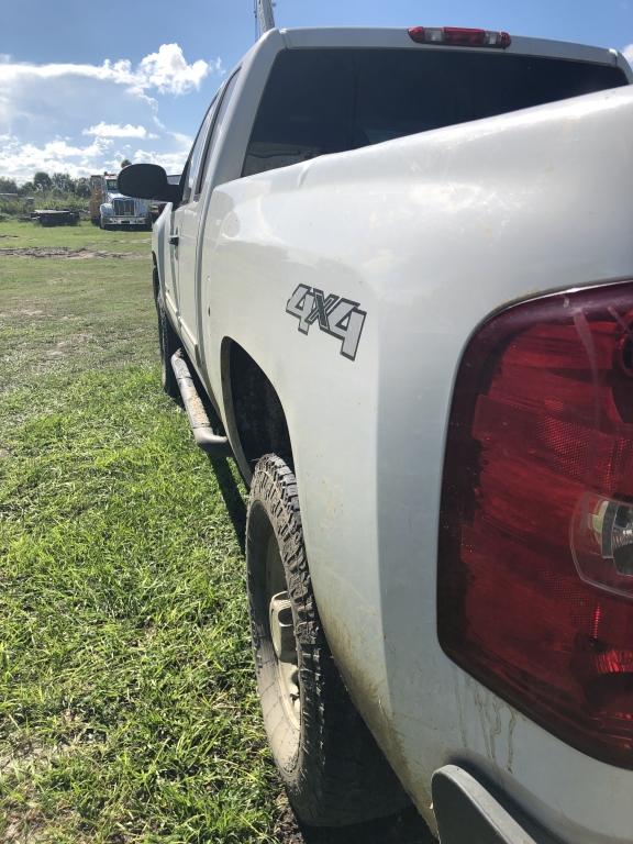
[[(434, 823), (433, 771), (463, 762), (562, 841), (631, 842), (633, 771), (569, 747), (456, 667), (437, 642), (435, 586), (446, 425), (468, 338), (509, 302), (633, 277), (633, 89), (240, 179), (277, 53), (343, 45), (420, 48), (402, 31), (274, 30), (241, 64), (198, 203), (199, 374), (246, 476), (223, 341), (276, 388), (330, 645), (424, 818)], [(631, 79), (614, 52), (526, 38), (510, 49), (611, 63)], [(178, 325), (170, 216), (154, 253)], [(366, 312), (354, 360), (286, 312), (302, 284)]]

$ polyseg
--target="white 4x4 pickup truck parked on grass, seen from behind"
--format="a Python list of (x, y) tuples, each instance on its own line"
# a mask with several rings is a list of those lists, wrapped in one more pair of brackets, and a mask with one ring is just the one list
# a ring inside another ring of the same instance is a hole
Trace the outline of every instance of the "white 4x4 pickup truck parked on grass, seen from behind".
[(631, 80), (506, 33), (273, 30), (179, 186), (119, 176), (170, 202), (164, 387), (251, 487), (307, 824), (412, 800), (447, 844), (633, 842)]

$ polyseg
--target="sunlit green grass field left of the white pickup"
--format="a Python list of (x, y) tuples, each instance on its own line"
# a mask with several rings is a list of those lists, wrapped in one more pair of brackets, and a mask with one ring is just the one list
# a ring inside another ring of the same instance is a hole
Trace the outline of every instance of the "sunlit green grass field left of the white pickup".
[(0, 841), (277, 840), (243, 558), (160, 391), (148, 244), (0, 224), (133, 256), (0, 253)]

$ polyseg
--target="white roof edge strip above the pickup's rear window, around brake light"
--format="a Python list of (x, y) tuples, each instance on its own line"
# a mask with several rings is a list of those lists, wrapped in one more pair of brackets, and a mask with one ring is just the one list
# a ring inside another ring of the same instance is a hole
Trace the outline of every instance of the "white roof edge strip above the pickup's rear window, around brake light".
[[(413, 24), (412, 24), (413, 25)], [(406, 27), (315, 27), (279, 30), (288, 48), (297, 47), (387, 47), (411, 49), (468, 49), (499, 53), (498, 48), (489, 47), (443, 47), (434, 44), (415, 43)], [(266, 36), (264, 36), (266, 37)], [(512, 43), (502, 51), (521, 55), (542, 56), (547, 58), (565, 58), (576, 62), (593, 62), (601, 65), (625, 65), (626, 59), (617, 51), (608, 47), (595, 47), (586, 44), (573, 44), (566, 41), (548, 38), (530, 38), (512, 35)]]

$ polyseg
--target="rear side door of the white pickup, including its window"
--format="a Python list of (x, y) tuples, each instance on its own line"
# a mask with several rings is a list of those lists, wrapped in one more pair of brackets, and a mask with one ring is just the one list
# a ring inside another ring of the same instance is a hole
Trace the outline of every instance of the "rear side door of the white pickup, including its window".
[(201, 360), (198, 335), (198, 269), (200, 225), (206, 206), (206, 202), (202, 202), (202, 188), (204, 187), (204, 197), (213, 188), (212, 185), (206, 185), (206, 176), (235, 78), (236, 74), (227, 80), (209, 107), (189, 156), (182, 201), (171, 219), (170, 244), (171, 248), (177, 251), (174, 277), (177, 284), (180, 336), (189, 357), (196, 364)]

